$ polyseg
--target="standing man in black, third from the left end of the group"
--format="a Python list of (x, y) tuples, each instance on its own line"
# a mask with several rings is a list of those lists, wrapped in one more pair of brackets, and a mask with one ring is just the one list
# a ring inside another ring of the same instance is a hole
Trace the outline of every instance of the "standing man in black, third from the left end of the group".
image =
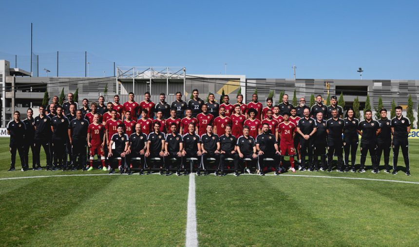
[(35, 118), (35, 170), (42, 170), (40, 166), (41, 146), (44, 148), (45, 156), (47, 160), (47, 170), (52, 167), (51, 157), (51, 119), (45, 115), (44, 106), (39, 106), (39, 116)]

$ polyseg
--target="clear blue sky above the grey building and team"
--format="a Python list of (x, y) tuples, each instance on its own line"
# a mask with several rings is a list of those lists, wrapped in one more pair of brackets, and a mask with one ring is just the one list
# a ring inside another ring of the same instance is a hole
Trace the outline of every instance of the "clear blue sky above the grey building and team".
[(7, 54), (18, 54), (18, 67), (27, 69), (22, 60), (30, 55), (33, 22), (41, 76), (45, 67), (56, 71), (57, 51), (62, 54), (61, 75), (84, 75), (87, 51), (92, 76), (103, 71), (111, 75), (113, 62), (185, 66), (188, 73), (200, 74), (224, 73), (227, 63), (228, 74), (248, 78), (292, 78), (295, 64), (297, 78), (354, 79), (362, 67), (364, 79), (419, 79), (415, 0), (74, 0), (8, 5), (0, 16), (9, 33), (0, 38), (0, 59), (12, 60)]

